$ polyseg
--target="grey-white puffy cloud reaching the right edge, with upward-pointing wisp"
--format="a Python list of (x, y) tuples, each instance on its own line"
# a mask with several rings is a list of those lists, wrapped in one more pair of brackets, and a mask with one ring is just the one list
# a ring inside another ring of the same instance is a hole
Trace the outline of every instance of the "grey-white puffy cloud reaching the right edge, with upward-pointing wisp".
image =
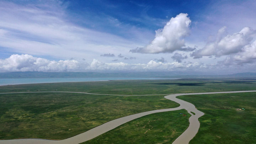
[(215, 41), (208, 42), (204, 48), (193, 52), (191, 56), (194, 58), (212, 55), (220, 57), (239, 53), (256, 38), (256, 31), (250, 27), (244, 27), (240, 32), (222, 37), (225, 29), (226, 27), (220, 28)]

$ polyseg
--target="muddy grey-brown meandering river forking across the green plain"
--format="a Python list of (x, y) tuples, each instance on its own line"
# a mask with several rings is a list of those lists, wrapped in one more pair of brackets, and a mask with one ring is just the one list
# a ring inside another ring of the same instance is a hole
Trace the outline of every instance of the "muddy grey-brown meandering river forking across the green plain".
[[(54, 91), (54, 92), (56, 92), (56, 91)], [(183, 132), (172, 144), (188, 144), (190, 142), (190, 140), (198, 132), (198, 129), (200, 127), (198, 118), (203, 116), (204, 113), (201, 111), (198, 111), (192, 103), (180, 100), (176, 97), (181, 96), (181, 95), (224, 94), (224, 93), (238, 93), (238, 92), (256, 92), (256, 90), (255, 91), (201, 92), (201, 93), (188, 93), (188, 94), (166, 94), (167, 96), (165, 96), (165, 98), (179, 103), (180, 106), (176, 107), (176, 108), (167, 108), (167, 109), (161, 109), (161, 110), (136, 113), (136, 114), (132, 114), (132, 115), (129, 115), (126, 117), (117, 118), (117, 119), (114, 119), (107, 123), (104, 123), (100, 126), (97, 126), (95, 128), (92, 128), (84, 133), (81, 133), (81, 134), (75, 135), (74, 137), (70, 137), (70, 138), (63, 139), (63, 140), (11, 139), (11, 140), (0, 140), (0, 144), (79, 144), (79, 143), (85, 142), (87, 140), (93, 139), (103, 133), (106, 133), (109, 130), (114, 129), (124, 123), (132, 121), (133, 119), (143, 117), (143, 116), (146, 116), (146, 115), (152, 114), (152, 113), (176, 111), (176, 110), (181, 110), (181, 109), (186, 109), (188, 111), (188, 113), (191, 114), (191, 117), (189, 118), (190, 124), (189, 124), (188, 128), (185, 130), (185, 132)], [(16, 92), (16, 93), (29, 93), (29, 92)], [(91, 93), (85, 93), (85, 92), (70, 92), (70, 93), (91, 94)], [(14, 94), (14, 93), (2, 93), (2, 94)], [(99, 95), (99, 94), (94, 94), (94, 95)], [(106, 94), (100, 94), (100, 95), (106, 95)], [(124, 95), (120, 95), (120, 96), (124, 96)], [(193, 114), (191, 112), (193, 112), (195, 114)]]

